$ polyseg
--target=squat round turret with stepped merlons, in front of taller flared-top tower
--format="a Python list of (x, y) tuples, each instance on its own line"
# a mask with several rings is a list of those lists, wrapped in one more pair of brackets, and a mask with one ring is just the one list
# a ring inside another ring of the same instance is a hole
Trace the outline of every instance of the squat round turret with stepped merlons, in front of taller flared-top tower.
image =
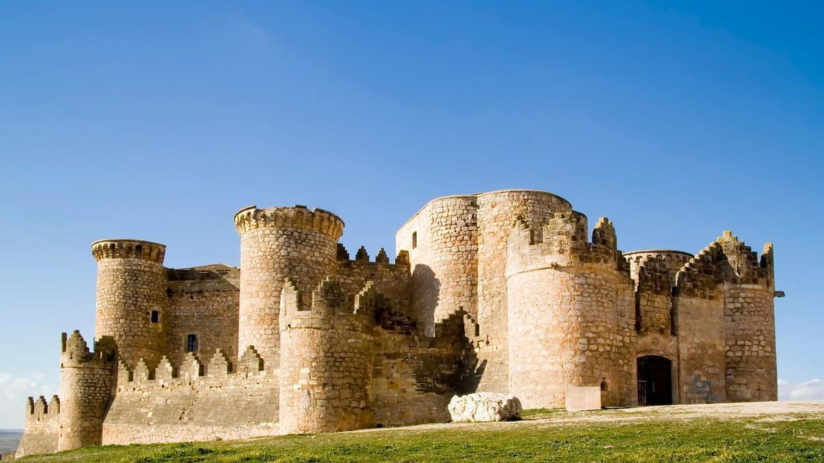
[(325, 279), (303, 297), (283, 287), (280, 310), (280, 430), (347, 431), (372, 426), (370, 381), (377, 294), (348, 295)]

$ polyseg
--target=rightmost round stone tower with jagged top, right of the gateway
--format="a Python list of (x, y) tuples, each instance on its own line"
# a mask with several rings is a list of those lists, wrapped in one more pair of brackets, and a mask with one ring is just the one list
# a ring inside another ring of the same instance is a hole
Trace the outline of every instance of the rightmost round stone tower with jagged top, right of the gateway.
[(717, 242), (727, 257), (722, 265), (727, 400), (778, 400), (772, 243), (759, 259), (732, 232), (723, 232)]

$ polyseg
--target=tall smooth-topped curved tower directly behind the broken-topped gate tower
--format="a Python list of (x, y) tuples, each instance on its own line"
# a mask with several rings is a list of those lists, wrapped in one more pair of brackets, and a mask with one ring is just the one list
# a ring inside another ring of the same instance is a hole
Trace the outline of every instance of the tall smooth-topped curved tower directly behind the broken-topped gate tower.
[[(537, 230), (556, 212), (572, 206), (555, 194), (507, 189), (477, 195), (478, 310), (470, 315), (479, 327), (478, 367), (472, 383), (477, 391), (508, 391), (508, 311), (506, 248), (513, 224), (521, 219)], [(468, 377), (472, 377), (469, 375)]]

